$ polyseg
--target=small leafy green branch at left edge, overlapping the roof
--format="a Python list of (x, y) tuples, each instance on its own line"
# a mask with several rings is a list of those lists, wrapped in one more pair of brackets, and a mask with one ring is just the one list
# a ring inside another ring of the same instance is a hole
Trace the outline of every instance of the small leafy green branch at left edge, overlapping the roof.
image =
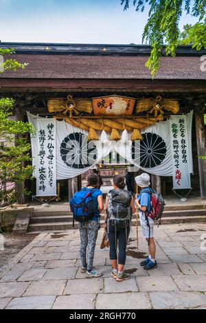
[(17, 71), (17, 69), (25, 69), (27, 67), (27, 63), (19, 63), (17, 60), (10, 58), (11, 54), (15, 54), (14, 49), (1, 49), (0, 55), (6, 56), (7, 58), (3, 63), (0, 64), (0, 73), (3, 71)]

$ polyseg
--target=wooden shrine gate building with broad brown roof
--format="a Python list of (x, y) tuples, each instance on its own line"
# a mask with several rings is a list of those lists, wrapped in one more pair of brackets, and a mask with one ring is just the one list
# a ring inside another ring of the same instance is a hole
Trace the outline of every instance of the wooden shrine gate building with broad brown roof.
[[(56, 117), (56, 110), (48, 109), (49, 102), (66, 102), (68, 96), (75, 102), (114, 95), (135, 98), (136, 112), (141, 100), (155, 100), (161, 96), (163, 100), (178, 102), (179, 114), (194, 111), (192, 194), (206, 198), (206, 162), (203, 158), (206, 155), (206, 50), (197, 52), (190, 46), (178, 47), (175, 58), (161, 58), (159, 72), (152, 80), (145, 67), (151, 50), (148, 45), (0, 43), (0, 47), (14, 48), (14, 58), (21, 63), (29, 63), (25, 70), (0, 74), (0, 96), (14, 98), (16, 120), (27, 121), (27, 111), (42, 117)], [(171, 110), (165, 109), (161, 120), (170, 114)], [(87, 113), (90, 122), (95, 120), (91, 115)], [(155, 118), (155, 114), (152, 117)], [(140, 113), (139, 118), (141, 123), (141, 118), (146, 117)], [(75, 124), (73, 120), (71, 122)], [(105, 129), (108, 128), (110, 125), (105, 125)], [(133, 130), (133, 127), (128, 124), (126, 129)], [(71, 191), (81, 185), (79, 180), (80, 177), (69, 179)], [(35, 194), (34, 181), (25, 185)], [(152, 175), (152, 185), (165, 195), (174, 194), (172, 177)], [(66, 195), (69, 194), (68, 181), (61, 182), (61, 187), (62, 195), (65, 191)], [(21, 186), (19, 203), (25, 203)]]

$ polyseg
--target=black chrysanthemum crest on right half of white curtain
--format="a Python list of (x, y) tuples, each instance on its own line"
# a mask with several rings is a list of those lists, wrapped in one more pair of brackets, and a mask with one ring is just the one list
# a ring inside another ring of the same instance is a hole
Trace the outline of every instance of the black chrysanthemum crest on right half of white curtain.
[(135, 164), (144, 168), (159, 166), (167, 154), (167, 146), (156, 133), (142, 133), (143, 140), (133, 141), (131, 154)]

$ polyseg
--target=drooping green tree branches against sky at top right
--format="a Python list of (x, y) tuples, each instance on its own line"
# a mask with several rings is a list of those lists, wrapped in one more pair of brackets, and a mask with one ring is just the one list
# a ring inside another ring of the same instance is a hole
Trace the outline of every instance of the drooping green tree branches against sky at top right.
[[(130, 0), (122, 0), (124, 10)], [(159, 59), (162, 55), (175, 56), (176, 47), (181, 43), (191, 44), (197, 50), (206, 48), (206, 0), (133, 0), (137, 12), (144, 12), (149, 7), (148, 22), (144, 27), (142, 42), (152, 46), (146, 67), (150, 69), (152, 78), (159, 70)], [(195, 25), (185, 25), (181, 33), (179, 21), (185, 10), (198, 18)]]

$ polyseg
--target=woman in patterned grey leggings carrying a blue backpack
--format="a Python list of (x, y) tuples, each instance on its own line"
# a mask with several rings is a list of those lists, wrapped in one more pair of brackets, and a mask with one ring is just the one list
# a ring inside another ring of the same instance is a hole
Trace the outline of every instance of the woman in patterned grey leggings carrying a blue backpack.
[(100, 213), (104, 209), (102, 191), (98, 186), (99, 177), (92, 173), (87, 177), (87, 187), (76, 192), (70, 201), (73, 223), (74, 219), (79, 222), (81, 272), (85, 273), (87, 278), (102, 276), (93, 269), (95, 244), (100, 228)]

